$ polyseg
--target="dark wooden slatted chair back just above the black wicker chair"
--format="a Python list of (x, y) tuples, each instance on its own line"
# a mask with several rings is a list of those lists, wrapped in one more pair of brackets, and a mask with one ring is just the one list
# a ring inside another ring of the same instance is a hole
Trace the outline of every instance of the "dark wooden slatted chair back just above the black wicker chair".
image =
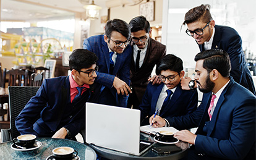
[[(28, 86), (28, 70), (21, 69), (4, 69), (2, 88), (5, 88), (6, 82), (8, 86)], [(9, 74), (9, 79), (6, 79), (6, 76)], [(23, 83), (22, 83), (23, 82)]]

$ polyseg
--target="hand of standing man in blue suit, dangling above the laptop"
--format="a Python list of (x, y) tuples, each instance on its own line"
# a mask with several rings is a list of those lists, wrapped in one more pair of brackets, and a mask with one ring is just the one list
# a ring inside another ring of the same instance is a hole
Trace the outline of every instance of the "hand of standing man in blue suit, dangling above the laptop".
[(122, 95), (126, 94), (126, 96), (128, 96), (129, 92), (132, 93), (132, 90), (130, 90), (129, 85), (127, 85), (126, 82), (120, 80), (117, 77), (114, 77), (113, 86), (114, 86), (114, 88), (116, 88), (118, 95), (120, 95), (120, 93), (121, 93)]

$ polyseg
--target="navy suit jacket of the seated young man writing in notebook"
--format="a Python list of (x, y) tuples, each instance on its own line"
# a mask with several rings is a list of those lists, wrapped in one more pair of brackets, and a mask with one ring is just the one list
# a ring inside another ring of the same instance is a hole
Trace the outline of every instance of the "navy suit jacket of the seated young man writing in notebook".
[[(156, 103), (158, 101), (164, 83), (160, 85), (148, 84), (147, 90), (143, 96), (142, 104), (139, 108), (141, 111), (141, 120), (146, 116), (152, 116), (156, 111)], [(197, 90), (182, 90), (181, 84), (177, 85), (176, 90), (169, 101), (168, 106), (160, 112), (161, 117), (183, 116), (197, 109), (198, 93)], [(143, 124), (147, 125), (147, 124)]]

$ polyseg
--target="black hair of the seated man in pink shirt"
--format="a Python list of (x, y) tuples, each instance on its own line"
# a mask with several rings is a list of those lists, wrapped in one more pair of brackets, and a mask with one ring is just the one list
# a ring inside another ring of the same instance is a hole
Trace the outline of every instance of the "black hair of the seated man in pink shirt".
[(95, 53), (88, 51), (87, 49), (75, 49), (69, 56), (69, 68), (70, 70), (88, 69), (93, 64), (96, 64), (98, 57)]

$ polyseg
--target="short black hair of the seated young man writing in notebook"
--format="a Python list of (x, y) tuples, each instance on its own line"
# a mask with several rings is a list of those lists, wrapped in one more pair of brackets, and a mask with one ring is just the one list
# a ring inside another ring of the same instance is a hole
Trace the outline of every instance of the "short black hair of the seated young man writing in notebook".
[(168, 69), (177, 73), (181, 72), (183, 70), (182, 60), (174, 54), (167, 54), (156, 65), (156, 75), (160, 75), (162, 70)]

